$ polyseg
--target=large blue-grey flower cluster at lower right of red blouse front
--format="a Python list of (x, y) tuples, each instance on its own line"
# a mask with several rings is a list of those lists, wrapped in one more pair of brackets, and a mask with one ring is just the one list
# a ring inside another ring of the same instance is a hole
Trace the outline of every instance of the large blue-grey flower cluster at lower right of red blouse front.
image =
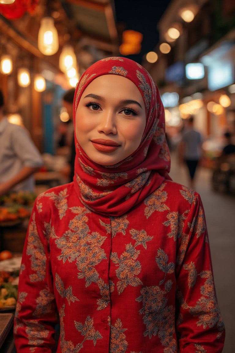
[[(173, 338), (174, 328), (171, 322), (174, 321), (175, 310), (173, 306), (167, 306), (167, 294), (171, 290), (172, 282), (167, 281), (165, 291), (161, 291), (159, 286), (143, 287), (141, 296), (136, 299), (143, 303), (140, 314), (143, 314), (143, 322), (146, 325), (144, 337), (158, 335), (162, 345), (166, 347), (164, 352), (174, 352), (176, 341)], [(168, 350), (167, 350), (168, 348)]]

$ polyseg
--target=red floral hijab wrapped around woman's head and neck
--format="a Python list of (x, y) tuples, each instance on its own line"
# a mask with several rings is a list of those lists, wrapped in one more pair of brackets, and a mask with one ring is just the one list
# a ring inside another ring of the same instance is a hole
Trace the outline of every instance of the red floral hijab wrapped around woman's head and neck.
[(120, 216), (142, 202), (163, 180), (171, 179), (168, 175), (170, 155), (159, 91), (149, 73), (130, 59), (102, 59), (82, 74), (74, 95), (74, 125), (76, 109), (85, 88), (105, 74), (124, 76), (138, 87), (146, 107), (146, 127), (137, 150), (113, 166), (101, 166), (89, 159), (75, 133), (74, 186), (81, 202), (89, 209), (103, 215)]

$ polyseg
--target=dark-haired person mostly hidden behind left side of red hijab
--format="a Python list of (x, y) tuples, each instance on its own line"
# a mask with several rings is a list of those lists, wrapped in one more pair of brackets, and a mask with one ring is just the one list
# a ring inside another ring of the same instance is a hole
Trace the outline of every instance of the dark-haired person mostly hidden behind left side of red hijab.
[[(62, 97), (63, 107), (66, 108), (67, 113), (69, 115), (69, 120), (72, 122), (73, 125), (73, 99), (74, 99), (75, 88), (71, 88), (70, 90), (66, 91)], [(70, 182), (73, 181), (74, 176), (74, 162), (75, 162), (75, 141), (74, 141), (74, 128), (70, 130), (70, 134), (72, 136), (72, 142), (69, 148), (69, 156), (68, 156), (68, 163), (62, 170), (63, 176)], [(70, 136), (70, 137), (71, 137)]]

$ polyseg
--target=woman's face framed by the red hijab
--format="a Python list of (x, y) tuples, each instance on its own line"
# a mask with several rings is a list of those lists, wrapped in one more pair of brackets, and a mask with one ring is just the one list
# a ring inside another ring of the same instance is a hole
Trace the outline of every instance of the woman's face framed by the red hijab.
[(103, 75), (84, 90), (75, 119), (76, 138), (87, 156), (111, 166), (140, 145), (146, 126), (144, 100), (128, 78)]

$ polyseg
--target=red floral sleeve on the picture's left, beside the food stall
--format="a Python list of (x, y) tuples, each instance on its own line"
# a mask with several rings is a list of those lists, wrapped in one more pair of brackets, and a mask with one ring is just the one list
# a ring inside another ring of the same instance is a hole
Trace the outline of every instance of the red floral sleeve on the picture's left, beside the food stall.
[[(18, 353), (51, 352), (54, 346), (56, 305), (48, 241), (32, 211), (20, 269), (14, 338)], [(37, 348), (38, 349), (37, 349)]]

